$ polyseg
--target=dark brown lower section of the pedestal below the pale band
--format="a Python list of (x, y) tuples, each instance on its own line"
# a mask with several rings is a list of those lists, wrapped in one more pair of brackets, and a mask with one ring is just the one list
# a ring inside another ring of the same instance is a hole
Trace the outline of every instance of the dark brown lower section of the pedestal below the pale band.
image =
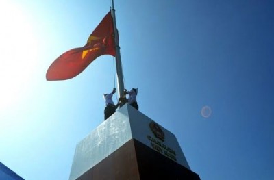
[(199, 175), (149, 147), (129, 140), (77, 180), (199, 180)]

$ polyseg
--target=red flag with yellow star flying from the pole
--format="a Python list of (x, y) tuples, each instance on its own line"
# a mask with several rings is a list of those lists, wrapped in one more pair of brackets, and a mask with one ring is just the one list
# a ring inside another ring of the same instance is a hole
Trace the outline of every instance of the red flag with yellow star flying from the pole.
[(58, 57), (47, 70), (48, 81), (71, 79), (82, 71), (100, 55), (115, 56), (114, 30), (111, 12), (90, 34), (84, 47), (66, 51)]

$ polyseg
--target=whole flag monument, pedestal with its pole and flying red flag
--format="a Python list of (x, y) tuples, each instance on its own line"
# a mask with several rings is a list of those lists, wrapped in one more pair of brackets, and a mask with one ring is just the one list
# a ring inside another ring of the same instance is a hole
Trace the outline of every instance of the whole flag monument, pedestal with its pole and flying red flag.
[[(124, 98), (123, 70), (114, 2), (84, 47), (66, 51), (47, 70), (48, 81), (71, 79), (100, 55), (116, 58), (119, 98)], [(123, 101), (75, 149), (69, 180), (198, 180), (173, 133)]]

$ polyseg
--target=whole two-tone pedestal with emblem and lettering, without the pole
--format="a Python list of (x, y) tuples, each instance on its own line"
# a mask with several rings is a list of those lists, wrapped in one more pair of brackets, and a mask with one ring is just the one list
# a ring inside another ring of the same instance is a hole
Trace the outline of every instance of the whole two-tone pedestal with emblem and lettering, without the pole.
[(189, 179), (190, 170), (173, 133), (131, 105), (123, 105), (75, 149), (69, 180)]

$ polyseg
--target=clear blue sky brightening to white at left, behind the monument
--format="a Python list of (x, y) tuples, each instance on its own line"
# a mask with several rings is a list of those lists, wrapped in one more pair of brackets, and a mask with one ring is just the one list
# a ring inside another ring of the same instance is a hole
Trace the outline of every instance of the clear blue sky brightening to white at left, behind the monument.
[[(86, 44), (110, 5), (0, 0), (0, 161), (26, 180), (69, 179), (76, 144), (103, 122), (112, 56), (67, 81), (45, 74)], [(190, 168), (203, 180), (274, 179), (273, 1), (115, 8), (125, 88), (138, 88), (140, 112), (175, 134)]]

